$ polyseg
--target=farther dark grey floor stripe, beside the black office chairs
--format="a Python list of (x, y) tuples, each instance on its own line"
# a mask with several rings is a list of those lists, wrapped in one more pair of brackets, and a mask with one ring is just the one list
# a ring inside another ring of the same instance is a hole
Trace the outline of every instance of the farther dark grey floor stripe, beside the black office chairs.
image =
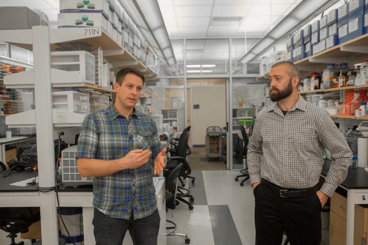
[(202, 171), (192, 170), (190, 176), (195, 177), (194, 183), (191, 182), (191, 179), (188, 179), (190, 195), (194, 197), (193, 205), (207, 205), (207, 196)]

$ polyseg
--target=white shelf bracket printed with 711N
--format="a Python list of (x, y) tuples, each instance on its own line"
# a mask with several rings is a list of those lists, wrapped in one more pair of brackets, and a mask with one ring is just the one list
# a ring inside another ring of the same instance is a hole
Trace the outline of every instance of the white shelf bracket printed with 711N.
[(93, 38), (101, 35), (102, 27), (50, 29), (50, 43), (69, 42), (72, 40)]

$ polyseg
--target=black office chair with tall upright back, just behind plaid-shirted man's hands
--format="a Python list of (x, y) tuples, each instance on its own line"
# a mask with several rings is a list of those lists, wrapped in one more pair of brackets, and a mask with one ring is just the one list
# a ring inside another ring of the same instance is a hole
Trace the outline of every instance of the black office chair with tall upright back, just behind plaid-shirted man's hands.
[[(194, 177), (188, 176), (192, 171), (186, 159), (187, 157), (186, 148), (188, 144), (188, 139), (189, 139), (189, 132), (183, 132), (180, 135), (179, 143), (177, 147), (177, 156), (167, 157), (167, 165), (166, 165), (166, 168), (164, 169), (165, 177), (168, 176), (170, 172), (174, 168), (176, 168), (180, 163), (183, 163), (183, 167), (180, 169), (179, 179), (180, 179), (180, 176), (194, 178)], [(177, 191), (179, 192), (177, 195), (177, 199), (180, 200), (181, 202), (186, 203), (189, 206), (189, 209), (192, 210), (193, 209), (192, 202), (194, 202), (194, 197), (190, 195), (190, 191), (183, 187), (178, 187)], [(190, 198), (190, 202), (185, 200), (184, 197)]]

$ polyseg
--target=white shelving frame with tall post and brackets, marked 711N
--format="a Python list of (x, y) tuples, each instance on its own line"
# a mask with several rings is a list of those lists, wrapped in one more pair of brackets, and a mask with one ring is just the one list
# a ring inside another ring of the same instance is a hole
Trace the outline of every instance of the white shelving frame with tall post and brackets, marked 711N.
[[(102, 47), (104, 56), (113, 63), (114, 68), (136, 67), (145, 74), (146, 80), (158, 80), (156, 74), (146, 68), (116, 42), (101, 27), (96, 28), (59, 28), (33, 26), (25, 30), (1, 30), (0, 40), (33, 51), (34, 68), (29, 71), (8, 75), (1, 82), (7, 88), (34, 89), (35, 109), (6, 116), (8, 127), (36, 127), (38, 148), (39, 187), (54, 187), (54, 140), (64, 132), (64, 136), (79, 134), (84, 120), (83, 115), (52, 108), (53, 88), (93, 88), (99, 92), (110, 92), (109, 88), (83, 82), (81, 74), (51, 68), (50, 52), (56, 49), (55, 43), (86, 41), (94, 47)], [(145, 95), (143, 95), (145, 96)], [(57, 202), (55, 191), (49, 192), (6, 192), (0, 193), (1, 206), (39, 206), (41, 211), (42, 241), (45, 244), (57, 244), (59, 233), (57, 225)], [(65, 196), (63, 198), (63, 196)], [(63, 205), (83, 206), (91, 199), (70, 198), (65, 192), (60, 196)], [(61, 205), (61, 204), (60, 204)], [(87, 219), (87, 220), (86, 220)], [(85, 217), (85, 222), (92, 218)], [(85, 244), (93, 244), (93, 234), (85, 233)]]

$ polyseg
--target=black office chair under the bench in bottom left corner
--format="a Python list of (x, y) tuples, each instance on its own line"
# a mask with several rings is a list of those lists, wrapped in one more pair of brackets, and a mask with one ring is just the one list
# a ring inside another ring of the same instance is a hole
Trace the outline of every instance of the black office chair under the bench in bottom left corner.
[(28, 232), (31, 224), (41, 219), (39, 207), (0, 207), (0, 229), (10, 234), (10, 245), (24, 245), (24, 242), (15, 243), (17, 233)]

